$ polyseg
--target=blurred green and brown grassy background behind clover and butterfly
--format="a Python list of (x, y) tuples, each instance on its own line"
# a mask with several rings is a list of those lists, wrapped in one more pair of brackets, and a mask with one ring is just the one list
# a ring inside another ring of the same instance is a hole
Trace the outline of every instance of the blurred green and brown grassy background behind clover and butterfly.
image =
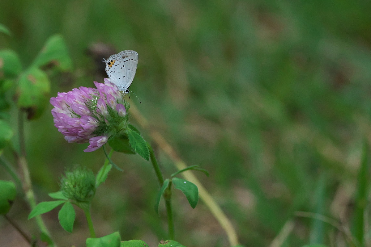
[[(354, 229), (362, 140), (371, 137), (370, 10), (371, 1), (349, 0), (2, 0), (0, 23), (12, 36), (0, 34), (0, 48), (15, 50), (26, 67), (48, 37), (62, 34), (74, 69), (52, 77), (52, 97), (102, 82), (104, 63), (97, 61), (137, 51), (130, 89), (142, 104), (135, 97), (129, 102), (188, 165), (210, 171), (209, 178), (197, 177), (232, 220), (240, 243), (269, 246), (293, 221), (282, 246), (344, 246), (334, 227), (294, 212), (319, 213)], [(68, 144), (51, 109), (26, 123), (38, 201), (58, 190), (64, 167), (78, 163), (97, 172), (104, 162), (102, 150), (83, 153), (86, 144)], [(162, 171), (173, 173), (172, 161), (157, 153)], [(97, 191), (97, 234), (119, 230), (124, 240), (156, 246), (166, 223), (164, 205), (161, 217), (153, 210), (158, 185), (151, 164), (138, 155), (113, 159), (125, 171), (112, 170)], [(0, 179), (10, 179), (3, 168)], [(175, 195), (177, 241), (228, 246), (202, 202), (192, 209)], [(59, 226), (57, 212), (44, 216), (57, 243), (84, 246), (82, 212), (74, 234)], [(27, 214), (18, 198), (9, 216), (33, 229)], [(0, 239), (20, 238), (2, 218), (0, 227)]]

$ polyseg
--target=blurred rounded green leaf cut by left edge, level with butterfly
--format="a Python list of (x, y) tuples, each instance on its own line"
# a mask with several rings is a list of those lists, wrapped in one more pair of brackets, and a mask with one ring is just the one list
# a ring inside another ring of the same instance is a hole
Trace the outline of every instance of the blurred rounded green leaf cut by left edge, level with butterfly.
[(21, 60), (13, 50), (0, 51), (0, 80), (14, 79), (22, 71)]

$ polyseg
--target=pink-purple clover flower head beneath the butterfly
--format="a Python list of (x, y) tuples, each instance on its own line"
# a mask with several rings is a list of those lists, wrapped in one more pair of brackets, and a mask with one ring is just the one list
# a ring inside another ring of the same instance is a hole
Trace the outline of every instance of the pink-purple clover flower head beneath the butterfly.
[(96, 88), (79, 87), (50, 99), (54, 126), (69, 143), (89, 142), (85, 152), (102, 147), (128, 121), (128, 106), (117, 87), (108, 79), (94, 84)]

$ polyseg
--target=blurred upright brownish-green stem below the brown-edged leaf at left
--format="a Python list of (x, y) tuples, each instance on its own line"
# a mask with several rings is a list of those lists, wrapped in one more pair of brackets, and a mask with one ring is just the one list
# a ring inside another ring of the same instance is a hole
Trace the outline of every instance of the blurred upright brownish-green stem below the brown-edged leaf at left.
[[(33, 210), (36, 207), (36, 197), (35, 193), (32, 189), (32, 182), (31, 182), (31, 176), (30, 171), (28, 168), (27, 160), (26, 160), (26, 144), (24, 139), (24, 121), (23, 121), (23, 112), (22, 110), (18, 111), (18, 136), (19, 136), (19, 147), (20, 147), (20, 154), (15, 153), (17, 163), (22, 170), (23, 173), (23, 190), (26, 195), (26, 200), (28, 201), (31, 210)], [(46, 236), (52, 240), (52, 237), (50, 236), (49, 230), (47, 230), (46, 225), (41, 218), (40, 215), (35, 216), (37, 226), (39, 227), (40, 231), (44, 233)], [(53, 241), (54, 242), (54, 241)], [(53, 243), (54, 246), (56, 246), (55, 243)]]

